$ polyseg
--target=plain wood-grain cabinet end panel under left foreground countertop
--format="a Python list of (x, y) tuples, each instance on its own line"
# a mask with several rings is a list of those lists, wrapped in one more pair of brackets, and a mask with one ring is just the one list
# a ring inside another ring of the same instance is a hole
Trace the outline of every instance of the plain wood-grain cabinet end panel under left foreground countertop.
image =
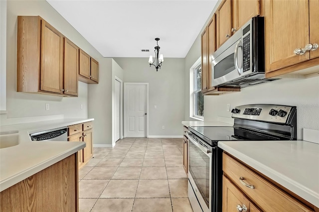
[(1, 212), (77, 212), (76, 154), (0, 193)]

